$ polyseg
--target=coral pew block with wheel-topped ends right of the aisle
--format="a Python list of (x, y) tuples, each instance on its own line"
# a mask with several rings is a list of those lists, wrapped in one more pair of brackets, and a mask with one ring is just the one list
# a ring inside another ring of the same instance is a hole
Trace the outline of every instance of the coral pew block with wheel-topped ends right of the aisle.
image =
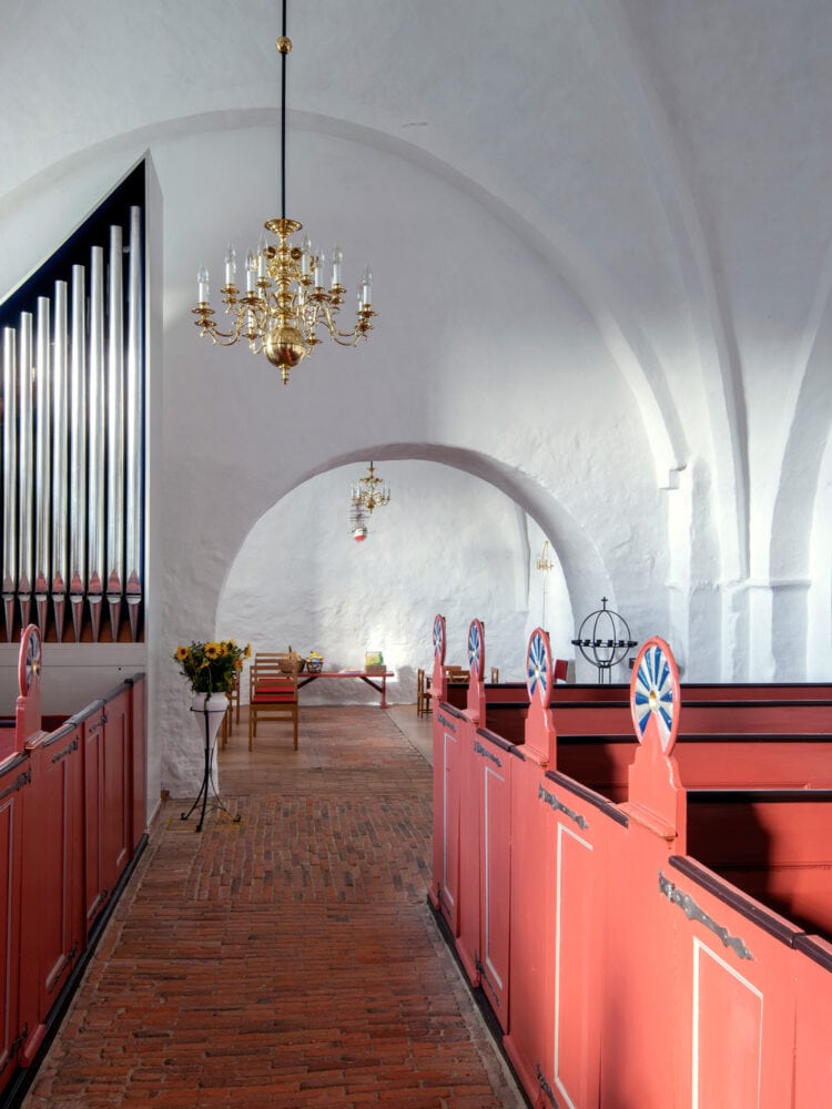
[[(481, 638), (479, 650), (481, 661)], [(630, 686), (636, 742), (556, 734), (540, 629), (527, 649), (521, 742), (483, 725), (494, 718), (475, 670), (464, 710), (438, 705), (436, 831), (455, 840), (435, 842), (430, 901), (532, 1103), (830, 1100), (832, 794), (778, 781), (804, 775), (791, 759), (801, 745), (822, 773), (825, 737), (682, 741), (660, 640), (640, 652)], [(686, 742), (701, 788), (686, 788)], [(743, 751), (737, 787), (714, 787), (709, 774), (719, 785)], [(743, 770), (767, 787), (740, 787)], [(617, 801), (593, 788), (610, 780)]]

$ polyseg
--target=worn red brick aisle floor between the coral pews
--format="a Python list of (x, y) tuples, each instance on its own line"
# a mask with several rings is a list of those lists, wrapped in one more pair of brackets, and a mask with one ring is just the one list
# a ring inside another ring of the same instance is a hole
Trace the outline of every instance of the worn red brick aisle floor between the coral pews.
[(524, 1106), (426, 905), (417, 747), (377, 708), (260, 732), (240, 823), (163, 806), (24, 1107)]

